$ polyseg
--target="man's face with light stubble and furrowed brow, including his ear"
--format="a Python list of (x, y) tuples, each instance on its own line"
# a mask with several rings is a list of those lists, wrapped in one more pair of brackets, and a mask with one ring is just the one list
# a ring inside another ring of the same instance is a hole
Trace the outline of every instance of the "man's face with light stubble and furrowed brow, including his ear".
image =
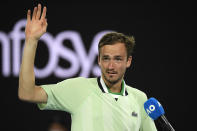
[(131, 65), (132, 57), (127, 59), (127, 50), (123, 43), (104, 45), (100, 48), (98, 63), (103, 79), (109, 84), (122, 81), (126, 68)]

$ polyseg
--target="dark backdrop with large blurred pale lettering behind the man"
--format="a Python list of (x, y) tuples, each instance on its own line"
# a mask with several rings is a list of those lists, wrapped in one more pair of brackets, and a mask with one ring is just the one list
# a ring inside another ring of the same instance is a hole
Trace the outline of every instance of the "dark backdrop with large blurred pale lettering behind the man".
[(68, 113), (40, 111), (17, 96), (26, 12), (38, 3), (47, 6), (48, 29), (37, 48), (37, 85), (98, 76), (99, 38), (108, 31), (133, 35), (136, 48), (126, 83), (159, 100), (175, 130), (192, 129), (195, 113), (189, 108), (195, 103), (196, 49), (192, 3), (24, 0), (0, 3), (0, 130), (70, 130)]

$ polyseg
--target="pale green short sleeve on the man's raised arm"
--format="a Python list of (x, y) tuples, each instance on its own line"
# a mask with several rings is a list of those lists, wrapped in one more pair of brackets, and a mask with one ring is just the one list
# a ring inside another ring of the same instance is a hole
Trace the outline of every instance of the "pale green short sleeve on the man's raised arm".
[(47, 103), (38, 103), (41, 110), (61, 110), (73, 113), (91, 94), (86, 78), (67, 79), (57, 84), (42, 85), (47, 93)]

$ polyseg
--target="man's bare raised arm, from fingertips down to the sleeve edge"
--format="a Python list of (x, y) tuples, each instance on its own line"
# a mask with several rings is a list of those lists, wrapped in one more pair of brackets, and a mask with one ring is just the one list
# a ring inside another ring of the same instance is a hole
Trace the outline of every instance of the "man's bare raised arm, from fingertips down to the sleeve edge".
[(35, 85), (34, 74), (37, 43), (47, 29), (47, 20), (45, 17), (46, 7), (43, 8), (41, 13), (41, 4), (34, 7), (32, 17), (31, 11), (28, 10), (27, 12), (27, 24), (25, 28), (26, 40), (19, 75), (19, 98), (35, 103), (47, 101), (47, 94), (41, 87)]

